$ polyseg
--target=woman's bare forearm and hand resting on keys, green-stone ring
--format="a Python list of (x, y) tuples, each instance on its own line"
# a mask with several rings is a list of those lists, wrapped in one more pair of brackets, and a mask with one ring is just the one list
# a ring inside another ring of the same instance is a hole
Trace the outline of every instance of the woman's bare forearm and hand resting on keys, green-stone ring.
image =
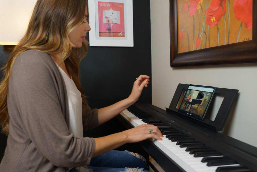
[[(153, 131), (150, 133), (149, 129), (152, 129)], [(120, 133), (95, 138), (95, 151), (93, 157), (118, 148), (125, 143), (140, 142), (148, 138), (162, 140), (160, 137), (163, 137), (163, 135), (157, 126), (142, 124), (138, 127), (131, 128)]]

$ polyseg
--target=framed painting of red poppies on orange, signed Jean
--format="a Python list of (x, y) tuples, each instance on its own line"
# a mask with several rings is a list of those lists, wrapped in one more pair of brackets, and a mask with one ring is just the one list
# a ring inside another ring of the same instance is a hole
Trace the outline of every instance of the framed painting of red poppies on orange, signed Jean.
[(257, 2), (170, 0), (171, 67), (257, 62)]

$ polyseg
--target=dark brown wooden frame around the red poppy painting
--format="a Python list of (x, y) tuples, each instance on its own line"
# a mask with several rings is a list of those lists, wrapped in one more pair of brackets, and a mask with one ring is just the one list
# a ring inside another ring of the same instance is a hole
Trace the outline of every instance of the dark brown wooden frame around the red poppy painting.
[(178, 53), (177, 0), (170, 0), (170, 66), (257, 62), (257, 2), (253, 1), (252, 40)]

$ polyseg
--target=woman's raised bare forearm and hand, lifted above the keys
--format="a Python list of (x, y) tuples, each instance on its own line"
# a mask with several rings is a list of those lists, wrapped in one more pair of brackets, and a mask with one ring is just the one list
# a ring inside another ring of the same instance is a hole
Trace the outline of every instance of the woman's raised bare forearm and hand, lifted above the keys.
[(138, 100), (139, 96), (141, 95), (143, 88), (147, 87), (149, 78), (150, 77), (147, 75), (140, 75), (137, 78), (138, 80), (135, 80), (133, 84), (132, 92), (127, 99), (121, 100), (108, 107), (99, 109), (98, 110), (99, 125), (112, 119), (117, 114), (121, 113), (124, 109), (128, 108), (130, 105), (135, 103)]

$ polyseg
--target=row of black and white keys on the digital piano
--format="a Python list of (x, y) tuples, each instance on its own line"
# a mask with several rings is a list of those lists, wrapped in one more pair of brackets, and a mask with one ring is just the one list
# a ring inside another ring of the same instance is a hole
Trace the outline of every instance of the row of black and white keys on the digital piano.
[(149, 140), (185, 171), (252, 171), (136, 107), (129, 107), (121, 116), (134, 127), (141, 124), (158, 126), (163, 140)]

